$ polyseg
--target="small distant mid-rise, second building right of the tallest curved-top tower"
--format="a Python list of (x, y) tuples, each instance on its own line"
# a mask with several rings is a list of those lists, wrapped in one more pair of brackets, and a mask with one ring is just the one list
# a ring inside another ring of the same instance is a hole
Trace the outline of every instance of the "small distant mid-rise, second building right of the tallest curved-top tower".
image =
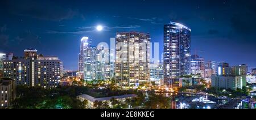
[(205, 63), (204, 78), (211, 78), (216, 75), (216, 62), (208, 61)]

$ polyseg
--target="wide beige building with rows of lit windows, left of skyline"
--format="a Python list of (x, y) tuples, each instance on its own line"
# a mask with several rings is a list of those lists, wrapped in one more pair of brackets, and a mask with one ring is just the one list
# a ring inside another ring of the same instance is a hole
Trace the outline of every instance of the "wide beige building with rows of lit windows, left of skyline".
[[(37, 50), (24, 50), (24, 58), (3, 61), (4, 77), (16, 85), (54, 88), (59, 85), (61, 61), (58, 57), (36, 55)], [(30, 54), (31, 53), (31, 54)]]

